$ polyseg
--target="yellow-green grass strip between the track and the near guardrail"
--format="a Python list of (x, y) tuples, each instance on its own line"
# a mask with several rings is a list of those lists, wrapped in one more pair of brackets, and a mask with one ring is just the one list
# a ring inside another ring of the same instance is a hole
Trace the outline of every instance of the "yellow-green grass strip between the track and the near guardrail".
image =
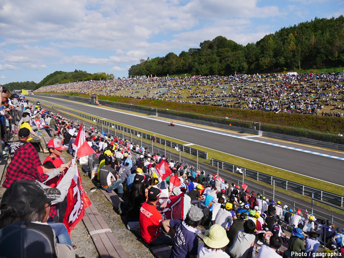
[[(41, 102), (45, 102), (45, 101), (41, 101)], [(48, 103), (52, 104), (51, 102), (48, 102)], [(55, 106), (59, 106), (59, 105), (55, 105)], [(59, 107), (65, 108), (63, 106), (59, 106)], [(112, 109), (112, 108), (109, 108), (109, 107), (107, 107), (107, 108), (108, 109)], [(70, 109), (70, 108), (68, 108), (68, 109)], [(70, 109), (70, 110), (74, 110), (74, 109)], [(78, 110), (74, 110), (74, 111), (80, 112)], [(84, 112), (80, 112), (80, 113), (87, 114), (87, 113), (84, 113)], [(87, 114), (87, 115), (89, 115), (89, 114)], [(79, 117), (79, 116), (75, 116), (75, 117), (78, 117), (80, 119), (84, 119), (84, 118)], [(97, 116), (95, 116), (95, 117), (97, 117)], [(101, 117), (97, 117), (97, 118), (101, 118)], [(142, 133), (146, 133), (146, 134), (150, 134), (150, 135), (154, 134), (153, 132), (141, 130), (138, 127), (134, 127), (134, 126), (130, 126), (130, 125), (127, 125), (127, 124), (119, 123), (117, 121), (113, 121), (113, 120), (109, 120), (109, 119), (106, 119), (106, 121), (114, 122), (114, 123), (116, 123), (118, 125), (125, 126), (125, 127), (128, 127), (128, 128), (131, 128), (133, 130), (140, 131)], [(92, 121), (92, 123), (94, 123), (94, 122)], [(126, 133), (124, 133), (124, 134), (126, 135)], [(130, 134), (128, 134), (127, 136), (130, 136)], [(159, 137), (159, 138), (168, 140), (168, 141), (179, 143), (179, 144), (183, 144), (183, 145), (187, 144), (186, 142), (179, 141), (179, 140), (176, 140), (176, 139), (173, 139), (173, 138), (169, 138), (169, 137), (166, 137), (166, 136), (162, 136), (162, 135), (158, 135), (158, 134), (156, 134), (156, 136)], [(141, 141), (141, 139), (137, 138), (136, 136), (133, 136), (133, 139), (135, 139), (136, 141)], [(142, 139), (142, 141), (145, 142), (145, 139)], [(151, 141), (147, 140), (147, 142), (145, 142), (145, 143), (148, 143), (148, 145), (149, 145), (151, 143)], [(158, 146), (158, 143), (155, 143), (155, 144)], [(163, 148), (163, 145), (161, 145), (161, 146)], [(261, 163), (257, 163), (257, 162), (254, 162), (254, 161), (246, 160), (246, 159), (239, 158), (239, 157), (236, 157), (236, 156), (233, 156), (233, 155), (229, 155), (229, 154), (225, 154), (225, 153), (222, 153), (222, 152), (219, 152), (219, 151), (214, 151), (214, 150), (211, 150), (211, 149), (204, 148), (202, 146), (192, 145), (192, 148), (208, 152), (208, 158), (209, 159), (210, 158), (216, 158), (218, 160), (222, 160), (222, 161), (225, 161), (225, 162), (228, 162), (228, 163), (232, 163), (232, 164), (235, 164), (235, 165), (240, 166), (240, 167), (245, 167), (245, 168), (249, 168), (249, 169), (252, 169), (252, 170), (255, 170), (255, 171), (259, 171), (261, 173), (265, 173), (265, 174), (268, 174), (268, 175), (271, 175), (271, 176), (279, 177), (279, 178), (282, 178), (282, 179), (285, 179), (285, 180), (288, 180), (288, 181), (297, 182), (299, 184), (303, 184), (303, 185), (306, 185), (306, 186), (310, 186), (310, 187), (313, 187), (313, 188), (316, 188), (316, 189), (320, 189), (320, 190), (323, 190), (323, 191), (327, 191), (327, 192), (331, 192), (331, 193), (334, 193), (334, 194), (338, 194), (338, 195), (342, 195), (342, 196), (344, 195), (344, 187), (341, 187), (341, 186), (333, 185), (331, 183), (323, 182), (323, 181), (320, 181), (320, 180), (317, 180), (317, 179), (313, 179), (313, 178), (309, 178), (309, 177), (305, 177), (305, 176), (302, 176), (302, 175), (293, 174), (293, 173), (290, 173), (289, 171), (286, 171), (286, 170), (283, 170), (283, 169), (279, 169), (279, 168), (275, 168), (275, 167), (272, 167), (272, 166), (268, 166), (268, 165), (264, 165), (264, 164), (261, 164)], [(171, 149), (169, 151), (171, 151), (173, 153), (176, 153), (176, 154), (179, 154), (179, 152), (177, 152), (174, 149)], [(195, 160), (195, 156), (190, 155), (188, 153), (183, 153), (183, 156), (186, 156), (186, 157), (188, 157), (190, 159)], [(204, 160), (204, 159), (201, 159), (201, 158), (199, 158), (199, 162), (209, 164), (209, 160)], [(226, 171), (226, 173), (229, 173), (229, 172)], [(260, 181), (255, 181), (255, 182), (257, 182), (259, 184), (263, 184), (263, 182), (260, 182)], [(289, 191), (287, 191), (287, 192), (289, 192)]]

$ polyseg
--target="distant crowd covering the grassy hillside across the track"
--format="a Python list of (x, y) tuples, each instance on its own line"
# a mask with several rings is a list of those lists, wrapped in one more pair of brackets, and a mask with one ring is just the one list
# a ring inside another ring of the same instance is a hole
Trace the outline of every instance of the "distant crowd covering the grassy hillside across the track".
[[(233, 76), (137, 77), (80, 81), (36, 92), (72, 92), (165, 100), (179, 103), (342, 117), (344, 74), (265, 74)], [(128, 93), (122, 93), (129, 91)], [(185, 92), (189, 93), (185, 96)], [(138, 93), (138, 94), (137, 94)], [(184, 94), (183, 94), (184, 93)]]

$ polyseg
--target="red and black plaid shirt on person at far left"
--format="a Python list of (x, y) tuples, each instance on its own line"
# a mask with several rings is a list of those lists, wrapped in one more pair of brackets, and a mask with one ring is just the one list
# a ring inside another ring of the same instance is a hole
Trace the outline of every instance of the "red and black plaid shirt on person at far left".
[[(47, 174), (40, 174), (37, 166), (42, 165), (38, 153), (31, 143), (28, 143), (14, 153), (11, 163), (7, 167), (6, 179), (3, 187), (9, 188), (17, 180), (30, 180), (44, 182), (48, 179)], [(49, 218), (58, 216), (57, 208), (50, 208)]]

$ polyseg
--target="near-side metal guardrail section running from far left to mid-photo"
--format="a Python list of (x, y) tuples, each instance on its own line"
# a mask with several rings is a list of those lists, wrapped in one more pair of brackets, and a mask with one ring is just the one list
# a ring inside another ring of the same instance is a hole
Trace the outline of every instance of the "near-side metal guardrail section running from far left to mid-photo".
[[(207, 152), (200, 151), (200, 150), (197, 150), (197, 149), (194, 149), (194, 148), (190, 148), (189, 146), (185, 146), (185, 145), (182, 145), (182, 144), (179, 144), (179, 143), (167, 141), (167, 140), (159, 138), (159, 137), (154, 137), (153, 135), (142, 133), (140, 131), (136, 131), (136, 130), (133, 130), (131, 128), (127, 128), (127, 127), (124, 127), (124, 126), (121, 126), (121, 125), (118, 125), (118, 124), (115, 124), (115, 123), (110, 123), (108, 121), (104, 121), (104, 120), (99, 119), (97, 117), (94, 117), (94, 116), (91, 116), (91, 115), (85, 115), (85, 114), (76, 112), (74, 110), (70, 110), (70, 109), (66, 109), (66, 108), (60, 108), (60, 107), (54, 107), (54, 108), (57, 109), (57, 110), (63, 111), (63, 112), (68, 112), (68, 113), (80, 116), (80, 117), (85, 118), (85, 119), (93, 120), (94, 122), (100, 123), (102, 125), (107, 125), (108, 126), (108, 131), (110, 131), (110, 126), (111, 126), (111, 128), (114, 128), (115, 130), (122, 131), (123, 134), (125, 132), (125, 133), (129, 133), (129, 134), (140, 135), (141, 138), (144, 138), (144, 139), (147, 139), (147, 140), (150, 140), (150, 141), (154, 141), (154, 142), (160, 143), (162, 145), (165, 145), (165, 146), (168, 146), (168, 147), (171, 147), (171, 148), (176, 148), (177, 147), (178, 149), (180, 149), (183, 152), (189, 153), (189, 154), (194, 155), (196, 157), (208, 159), (208, 153)], [(102, 126), (102, 131), (104, 132), (103, 126)], [(115, 133), (116, 133), (116, 131), (115, 131)]]

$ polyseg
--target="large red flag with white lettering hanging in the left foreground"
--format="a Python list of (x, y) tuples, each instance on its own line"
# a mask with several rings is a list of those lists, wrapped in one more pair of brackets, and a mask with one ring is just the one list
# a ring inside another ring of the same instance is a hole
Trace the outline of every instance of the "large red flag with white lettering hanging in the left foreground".
[[(73, 161), (75, 163), (74, 159)], [(91, 201), (83, 190), (80, 174), (77, 166), (75, 166), (75, 175), (68, 189), (67, 208), (63, 218), (63, 224), (67, 227), (69, 234), (83, 218), (85, 213), (84, 209), (90, 205)]]

